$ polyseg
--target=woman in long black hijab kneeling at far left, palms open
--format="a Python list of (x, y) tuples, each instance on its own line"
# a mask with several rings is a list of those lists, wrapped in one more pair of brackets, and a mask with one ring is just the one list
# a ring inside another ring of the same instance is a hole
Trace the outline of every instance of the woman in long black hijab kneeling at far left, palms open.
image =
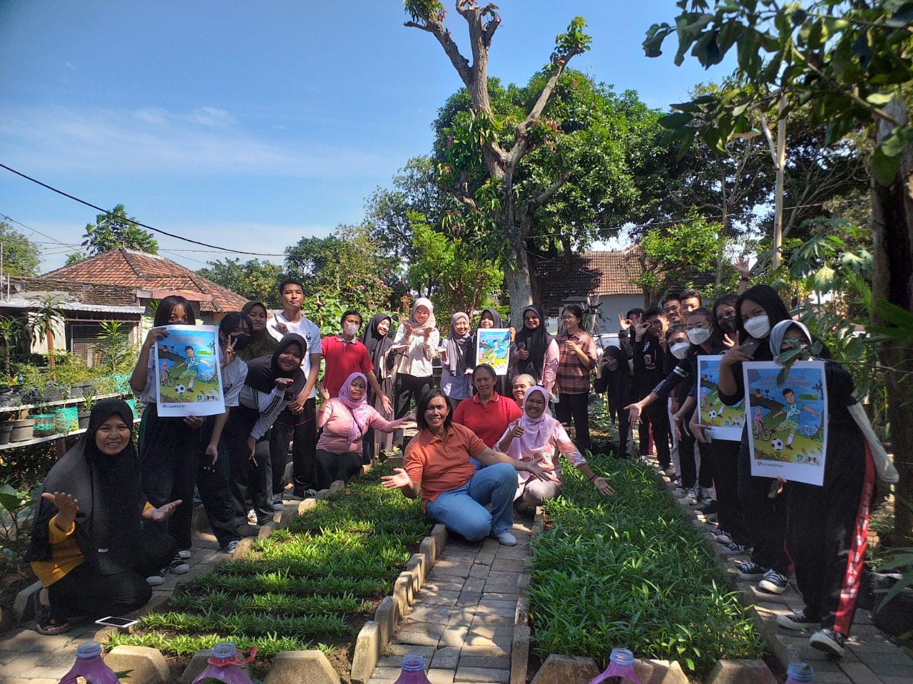
[(133, 446), (133, 411), (103, 399), (89, 429), (47, 473), (26, 560), (43, 588), (37, 630), (60, 634), (68, 616), (123, 615), (152, 597), (146, 577), (173, 558), (167, 534), (142, 521), (167, 520), (181, 503), (155, 508), (145, 500)]

